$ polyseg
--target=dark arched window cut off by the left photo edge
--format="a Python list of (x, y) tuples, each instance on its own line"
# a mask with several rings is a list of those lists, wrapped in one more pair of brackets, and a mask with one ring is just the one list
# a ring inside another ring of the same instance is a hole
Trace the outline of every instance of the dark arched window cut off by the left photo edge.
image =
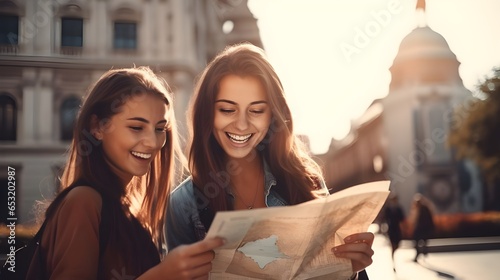
[(12, 97), (0, 93), (0, 140), (16, 141), (17, 107)]

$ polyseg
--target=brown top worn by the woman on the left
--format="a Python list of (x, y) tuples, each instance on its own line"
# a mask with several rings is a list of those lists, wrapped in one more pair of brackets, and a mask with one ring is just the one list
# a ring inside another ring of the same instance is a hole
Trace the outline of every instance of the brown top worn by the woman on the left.
[(61, 201), (41, 242), (49, 279), (132, 279), (160, 262), (150, 234), (117, 207), (112, 222), (103, 225), (112, 227), (114, 246), (99, 258), (101, 208), (101, 195), (90, 187), (74, 188)]

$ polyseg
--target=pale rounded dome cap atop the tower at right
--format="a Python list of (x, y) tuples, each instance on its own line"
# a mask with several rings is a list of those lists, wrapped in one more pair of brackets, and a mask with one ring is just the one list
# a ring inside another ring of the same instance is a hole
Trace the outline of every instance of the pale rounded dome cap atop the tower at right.
[(394, 62), (408, 59), (456, 60), (456, 56), (441, 34), (425, 26), (415, 28), (401, 41)]

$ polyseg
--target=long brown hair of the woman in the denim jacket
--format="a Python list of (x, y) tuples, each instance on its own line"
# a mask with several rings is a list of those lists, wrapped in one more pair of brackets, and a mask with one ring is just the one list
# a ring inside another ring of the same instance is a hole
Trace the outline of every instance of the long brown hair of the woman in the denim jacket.
[(214, 211), (228, 209), (223, 190), (228, 174), (225, 152), (213, 136), (215, 99), (220, 81), (227, 75), (255, 77), (265, 89), (272, 120), (257, 151), (276, 177), (277, 190), (290, 204), (315, 198), (312, 191), (321, 187), (321, 171), (293, 134), (293, 119), (283, 85), (264, 51), (243, 43), (228, 46), (205, 68), (190, 104), (189, 168), (196, 187), (209, 198), (211, 208)]

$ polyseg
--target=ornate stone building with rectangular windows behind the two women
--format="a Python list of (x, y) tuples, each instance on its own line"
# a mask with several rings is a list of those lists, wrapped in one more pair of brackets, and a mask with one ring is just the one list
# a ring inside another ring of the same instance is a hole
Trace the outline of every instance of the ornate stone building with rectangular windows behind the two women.
[(55, 193), (81, 98), (102, 73), (150, 66), (172, 87), (185, 131), (196, 76), (240, 41), (262, 47), (246, 0), (0, 0), (0, 223), (8, 181), (18, 223)]

